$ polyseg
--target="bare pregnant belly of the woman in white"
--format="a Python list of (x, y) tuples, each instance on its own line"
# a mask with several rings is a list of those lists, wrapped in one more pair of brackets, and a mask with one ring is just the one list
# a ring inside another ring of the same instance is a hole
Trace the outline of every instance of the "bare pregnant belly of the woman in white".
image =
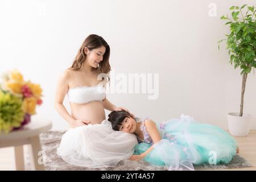
[(106, 119), (102, 102), (94, 101), (84, 105), (70, 103), (70, 105), (72, 117), (75, 119), (88, 120), (92, 125)]

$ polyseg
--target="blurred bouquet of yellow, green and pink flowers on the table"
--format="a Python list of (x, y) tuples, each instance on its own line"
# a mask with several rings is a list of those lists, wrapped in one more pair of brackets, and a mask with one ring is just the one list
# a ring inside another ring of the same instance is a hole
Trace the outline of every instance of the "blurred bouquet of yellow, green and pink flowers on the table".
[(0, 133), (18, 130), (36, 114), (36, 105), (43, 103), (42, 88), (24, 81), (18, 71), (6, 72), (0, 83)]

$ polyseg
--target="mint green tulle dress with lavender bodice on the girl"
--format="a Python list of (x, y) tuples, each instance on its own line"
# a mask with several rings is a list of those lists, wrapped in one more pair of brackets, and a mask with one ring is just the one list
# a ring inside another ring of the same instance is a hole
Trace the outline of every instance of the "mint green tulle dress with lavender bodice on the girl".
[[(229, 163), (236, 156), (237, 142), (220, 127), (196, 122), (189, 115), (159, 124), (162, 140), (153, 143), (142, 121), (144, 139), (137, 137), (134, 155), (142, 154), (153, 144), (144, 161), (169, 170), (194, 170), (193, 164)], [(139, 120), (137, 120), (138, 122)]]

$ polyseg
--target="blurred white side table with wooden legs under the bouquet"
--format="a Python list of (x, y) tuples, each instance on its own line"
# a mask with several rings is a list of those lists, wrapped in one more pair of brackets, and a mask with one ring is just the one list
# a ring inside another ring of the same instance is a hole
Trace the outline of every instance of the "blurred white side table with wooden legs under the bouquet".
[(32, 115), (31, 122), (24, 126), (23, 129), (11, 131), (9, 134), (0, 134), (0, 148), (14, 146), (16, 170), (24, 170), (24, 152), (23, 145), (30, 146), (30, 162), (32, 170), (44, 170), (44, 165), (38, 163), (39, 151), (42, 151), (39, 134), (51, 129), (52, 122), (39, 115)]

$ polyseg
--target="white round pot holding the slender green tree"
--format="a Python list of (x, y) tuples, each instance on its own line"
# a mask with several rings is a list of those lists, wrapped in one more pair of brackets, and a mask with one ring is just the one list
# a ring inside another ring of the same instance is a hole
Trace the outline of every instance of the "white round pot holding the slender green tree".
[(228, 113), (228, 125), (230, 134), (238, 137), (247, 136), (250, 131), (253, 115), (244, 114), (240, 117), (239, 113)]

